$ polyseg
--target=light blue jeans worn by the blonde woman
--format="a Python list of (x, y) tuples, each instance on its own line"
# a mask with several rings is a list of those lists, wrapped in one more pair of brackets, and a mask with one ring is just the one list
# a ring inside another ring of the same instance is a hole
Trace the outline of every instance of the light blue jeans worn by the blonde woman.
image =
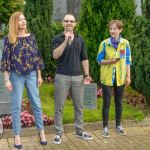
[(19, 75), (12, 71), (10, 80), (13, 87), (11, 93), (11, 112), (14, 134), (17, 135), (21, 133), (20, 113), (24, 86), (26, 86), (28, 98), (34, 113), (36, 128), (38, 130), (44, 129), (36, 71), (30, 72), (29, 75)]

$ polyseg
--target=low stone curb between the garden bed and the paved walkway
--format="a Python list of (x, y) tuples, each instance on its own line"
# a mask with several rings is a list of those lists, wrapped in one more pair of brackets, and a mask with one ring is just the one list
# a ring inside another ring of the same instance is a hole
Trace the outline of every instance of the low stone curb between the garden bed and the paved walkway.
[[(143, 127), (143, 126), (150, 126), (150, 118), (145, 118), (143, 121), (136, 121), (136, 120), (122, 120), (123, 127)], [(75, 132), (74, 124), (64, 124), (64, 132)], [(109, 129), (115, 128), (115, 121), (109, 121)], [(92, 122), (92, 123), (84, 123), (84, 129), (86, 131), (90, 130), (99, 130), (102, 129), (102, 121), (99, 122)], [(45, 134), (55, 134), (54, 125), (45, 126)], [(22, 128), (21, 136), (33, 136), (37, 135), (37, 130), (35, 127), (29, 128)], [(10, 138), (13, 137), (12, 129), (5, 129), (3, 138)]]

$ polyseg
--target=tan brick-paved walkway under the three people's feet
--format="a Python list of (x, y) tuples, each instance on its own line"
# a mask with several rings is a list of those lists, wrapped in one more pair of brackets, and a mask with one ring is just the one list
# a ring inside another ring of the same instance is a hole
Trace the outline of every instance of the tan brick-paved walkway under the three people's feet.
[[(88, 131), (93, 140), (85, 141), (78, 139), (74, 132), (65, 133), (62, 144), (54, 145), (54, 134), (46, 135), (47, 146), (41, 146), (37, 136), (22, 137), (23, 150), (149, 150), (150, 149), (150, 126), (126, 127), (126, 136), (118, 135), (114, 129), (110, 129), (110, 137), (103, 138), (102, 130)], [(14, 150), (14, 139), (0, 140), (0, 150)]]

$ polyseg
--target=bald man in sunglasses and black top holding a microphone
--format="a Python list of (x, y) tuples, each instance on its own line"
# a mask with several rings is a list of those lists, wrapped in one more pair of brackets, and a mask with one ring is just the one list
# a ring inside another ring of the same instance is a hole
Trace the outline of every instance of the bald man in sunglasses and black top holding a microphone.
[[(89, 61), (83, 39), (74, 33), (76, 26), (75, 17), (67, 14), (63, 20), (64, 32), (56, 35), (52, 41), (53, 58), (57, 60), (55, 86), (55, 114), (54, 126), (56, 135), (54, 144), (61, 143), (63, 130), (64, 103), (70, 92), (74, 105), (74, 122), (76, 136), (85, 140), (91, 140), (83, 128), (83, 84), (90, 84)], [(83, 71), (82, 71), (82, 68)], [(82, 74), (83, 72), (83, 74)]]

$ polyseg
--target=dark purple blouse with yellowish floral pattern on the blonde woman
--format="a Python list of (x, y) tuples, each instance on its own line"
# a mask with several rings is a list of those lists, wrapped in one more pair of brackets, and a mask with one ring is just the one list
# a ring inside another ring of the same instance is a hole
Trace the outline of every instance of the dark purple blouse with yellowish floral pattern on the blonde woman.
[(1, 60), (2, 71), (16, 71), (18, 74), (26, 75), (43, 68), (41, 53), (33, 35), (18, 37), (16, 44), (11, 44), (8, 36), (5, 37)]

